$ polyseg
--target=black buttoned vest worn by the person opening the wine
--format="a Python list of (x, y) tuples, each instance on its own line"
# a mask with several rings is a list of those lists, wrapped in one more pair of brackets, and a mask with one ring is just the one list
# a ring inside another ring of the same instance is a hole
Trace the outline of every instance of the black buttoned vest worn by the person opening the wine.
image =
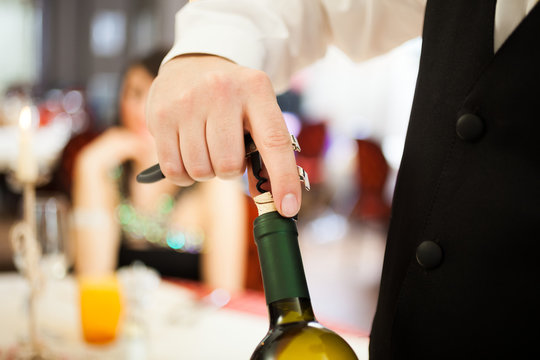
[(540, 6), (494, 13), (428, 1), (372, 360), (540, 358)]

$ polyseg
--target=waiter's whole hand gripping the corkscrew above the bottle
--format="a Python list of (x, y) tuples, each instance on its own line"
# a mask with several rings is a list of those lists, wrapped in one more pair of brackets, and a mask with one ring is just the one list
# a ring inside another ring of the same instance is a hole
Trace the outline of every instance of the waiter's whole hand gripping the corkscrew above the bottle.
[[(278, 211), (298, 212), (300, 183), (291, 140), (266, 74), (212, 55), (179, 56), (160, 69), (147, 122), (165, 176), (187, 186), (241, 175), (244, 131), (265, 163)], [(250, 191), (256, 194), (250, 178)]]

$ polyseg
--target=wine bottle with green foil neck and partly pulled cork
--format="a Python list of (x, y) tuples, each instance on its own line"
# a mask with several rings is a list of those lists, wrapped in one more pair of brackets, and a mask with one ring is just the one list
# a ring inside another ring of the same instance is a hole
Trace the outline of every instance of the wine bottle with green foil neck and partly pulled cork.
[(272, 195), (255, 197), (253, 233), (270, 315), (270, 329), (251, 360), (357, 360), (338, 334), (315, 319), (298, 246), (296, 221), (282, 217)]

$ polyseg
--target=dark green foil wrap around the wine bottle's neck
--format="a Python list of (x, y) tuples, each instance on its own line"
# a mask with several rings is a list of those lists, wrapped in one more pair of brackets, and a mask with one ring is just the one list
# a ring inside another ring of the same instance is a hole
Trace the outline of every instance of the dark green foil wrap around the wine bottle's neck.
[[(309, 303), (296, 221), (284, 218), (276, 211), (268, 212), (255, 219), (253, 233), (266, 303), (269, 306), (277, 301), (287, 303), (285, 299), (307, 299)], [(296, 303), (300, 301), (296, 300)]]

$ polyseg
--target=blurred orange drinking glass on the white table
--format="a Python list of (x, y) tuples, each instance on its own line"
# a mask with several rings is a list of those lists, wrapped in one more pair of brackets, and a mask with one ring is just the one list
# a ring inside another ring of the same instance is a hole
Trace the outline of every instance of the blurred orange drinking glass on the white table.
[(79, 278), (84, 340), (106, 344), (116, 338), (122, 314), (120, 284), (114, 275)]

